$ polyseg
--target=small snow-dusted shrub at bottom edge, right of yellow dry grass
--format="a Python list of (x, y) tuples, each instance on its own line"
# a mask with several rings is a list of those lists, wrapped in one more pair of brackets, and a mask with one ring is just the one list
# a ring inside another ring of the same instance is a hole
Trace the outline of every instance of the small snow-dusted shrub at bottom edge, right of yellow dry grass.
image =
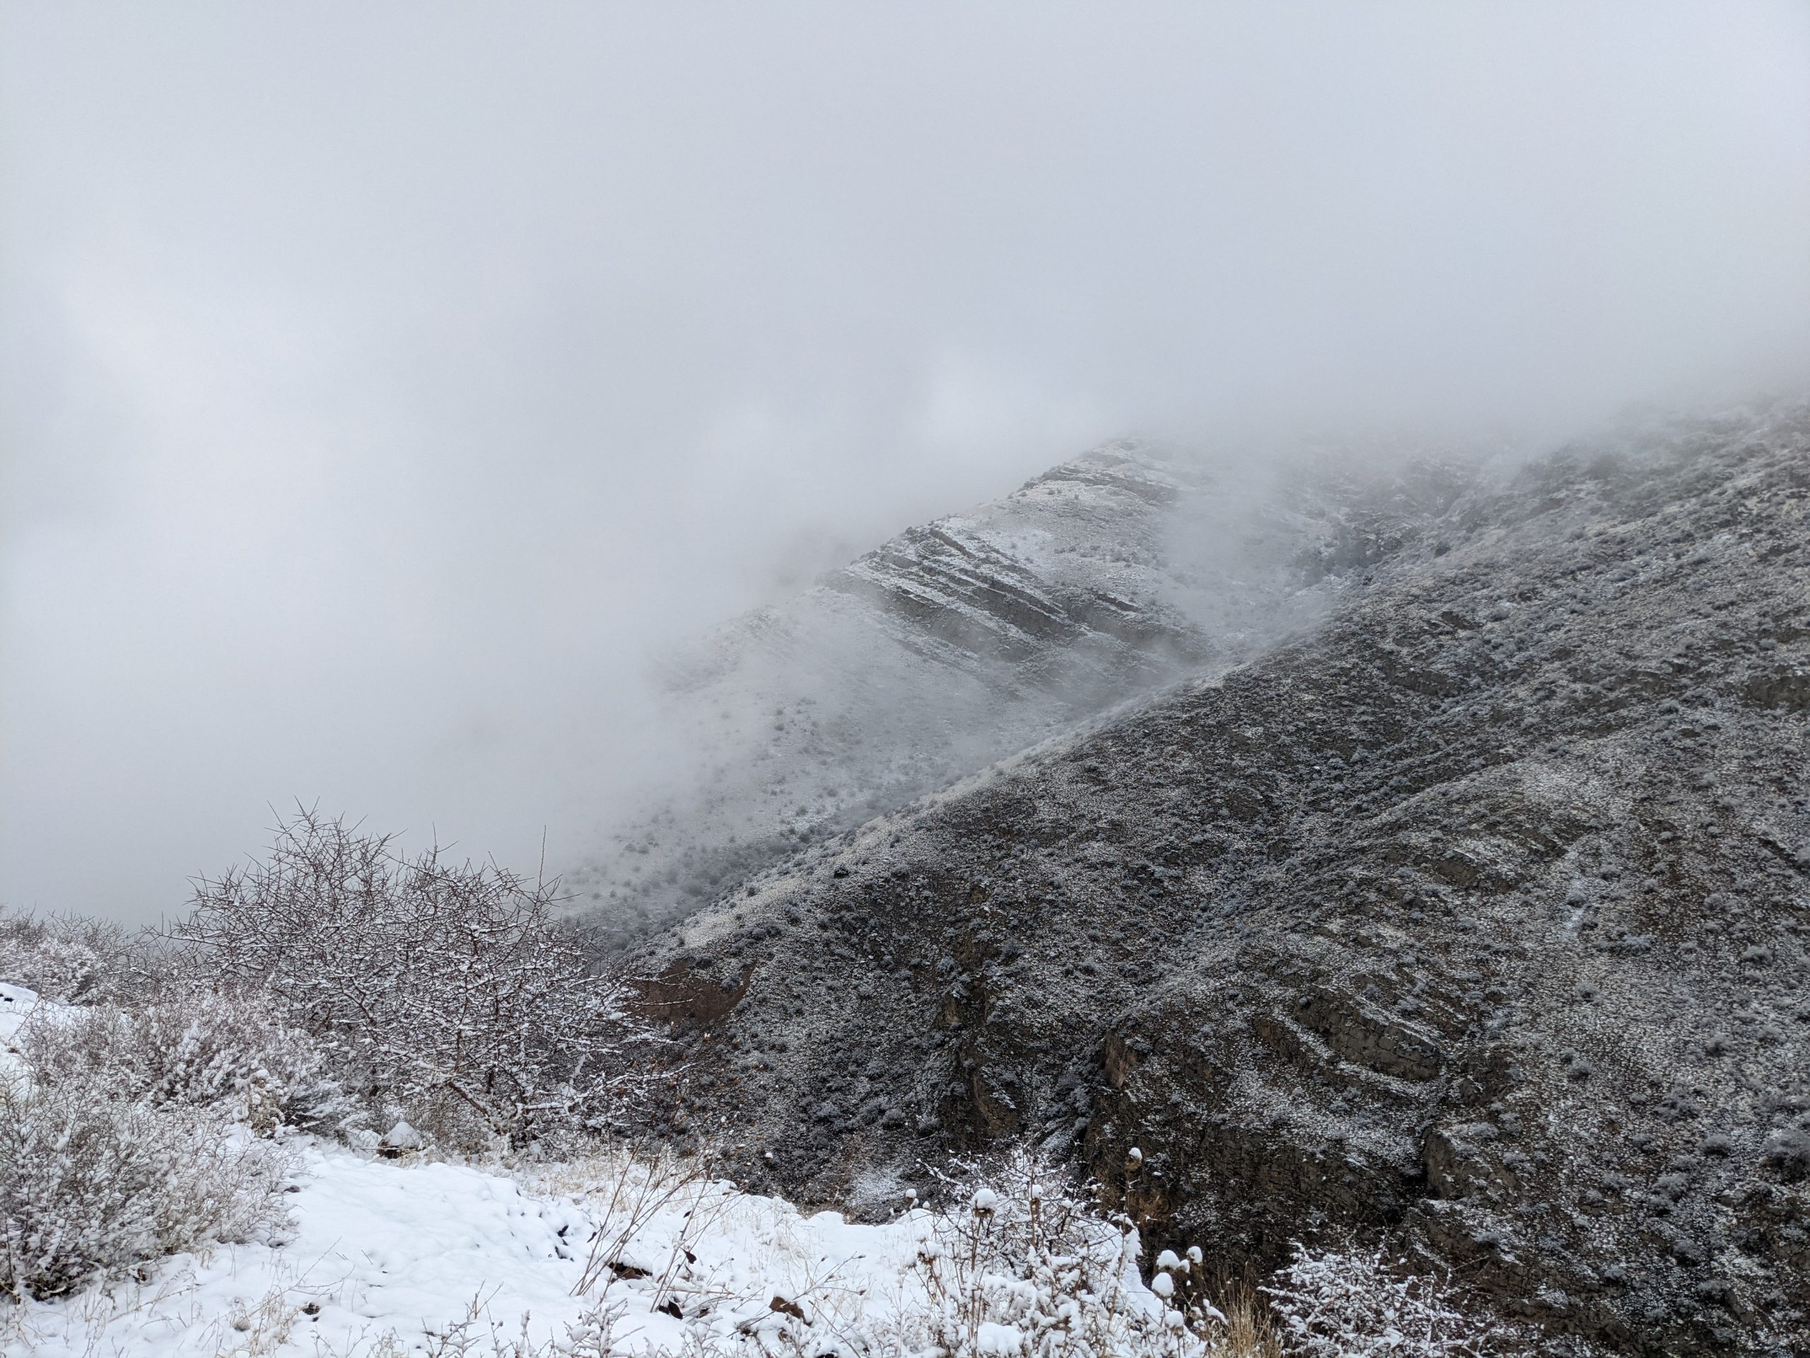
[(1381, 1251), (1294, 1248), (1269, 1286), (1289, 1353), (1310, 1358), (1444, 1358), (1495, 1353), (1500, 1327), (1468, 1315), (1439, 1278)]

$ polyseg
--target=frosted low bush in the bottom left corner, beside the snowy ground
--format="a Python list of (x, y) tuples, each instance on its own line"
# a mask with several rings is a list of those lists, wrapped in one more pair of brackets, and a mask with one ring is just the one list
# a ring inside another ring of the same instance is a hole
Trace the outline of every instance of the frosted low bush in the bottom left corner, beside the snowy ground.
[[(60, 1027), (62, 1016), (27, 1023), (24, 1065), (0, 1070), (0, 1291), (52, 1296), (281, 1219), (288, 1159), (277, 1144), (223, 1110), (154, 1103), (107, 1061), (36, 1066), (47, 1047), (34, 1038)], [(109, 1019), (92, 1036), (118, 1030)]]

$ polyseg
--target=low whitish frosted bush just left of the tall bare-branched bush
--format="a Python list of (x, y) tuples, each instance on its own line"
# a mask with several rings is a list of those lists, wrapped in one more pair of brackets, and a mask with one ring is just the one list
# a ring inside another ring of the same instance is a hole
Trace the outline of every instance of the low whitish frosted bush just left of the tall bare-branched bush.
[(132, 1012), (67, 1009), (27, 1025), (20, 1041), (40, 1081), (85, 1079), (123, 1099), (214, 1108), (253, 1132), (338, 1132), (358, 1117), (320, 1045), (281, 1023), (261, 996), (167, 987), (165, 999)]

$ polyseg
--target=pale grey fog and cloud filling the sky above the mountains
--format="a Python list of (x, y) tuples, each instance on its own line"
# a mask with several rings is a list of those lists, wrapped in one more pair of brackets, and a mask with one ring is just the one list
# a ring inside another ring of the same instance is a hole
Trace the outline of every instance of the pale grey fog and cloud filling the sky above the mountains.
[(1126, 431), (1799, 382), (1810, 11), (4, 5), (0, 902), (514, 865), (646, 655)]

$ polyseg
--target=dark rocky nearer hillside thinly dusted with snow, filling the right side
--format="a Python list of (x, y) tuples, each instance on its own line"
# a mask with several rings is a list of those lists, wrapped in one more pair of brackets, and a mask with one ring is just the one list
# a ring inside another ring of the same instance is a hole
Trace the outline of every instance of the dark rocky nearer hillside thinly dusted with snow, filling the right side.
[(816, 1200), (1053, 1139), (1231, 1266), (1388, 1233), (1551, 1336), (1805, 1351), (1806, 675), (1805, 411), (1569, 449), (659, 940), (675, 1119)]

